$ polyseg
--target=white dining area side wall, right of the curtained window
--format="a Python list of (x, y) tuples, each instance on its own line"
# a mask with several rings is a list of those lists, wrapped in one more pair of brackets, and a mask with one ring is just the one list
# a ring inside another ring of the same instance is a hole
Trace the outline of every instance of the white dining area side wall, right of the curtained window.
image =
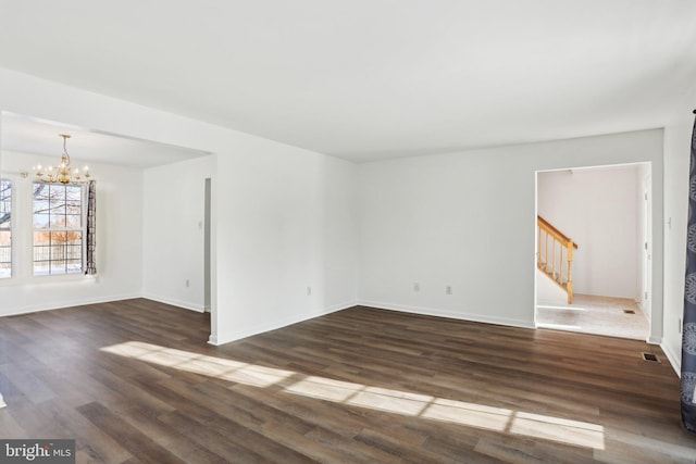
[(209, 155), (145, 170), (146, 298), (204, 310), (204, 187), (206, 178), (213, 174), (214, 161), (214, 155)]

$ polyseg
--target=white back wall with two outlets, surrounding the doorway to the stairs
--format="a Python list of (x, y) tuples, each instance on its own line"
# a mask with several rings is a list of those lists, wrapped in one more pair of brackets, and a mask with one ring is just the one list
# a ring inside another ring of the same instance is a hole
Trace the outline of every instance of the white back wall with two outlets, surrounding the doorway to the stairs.
[(651, 340), (659, 341), (660, 129), (360, 165), (361, 302), (533, 326), (536, 171), (635, 162), (652, 162)]

